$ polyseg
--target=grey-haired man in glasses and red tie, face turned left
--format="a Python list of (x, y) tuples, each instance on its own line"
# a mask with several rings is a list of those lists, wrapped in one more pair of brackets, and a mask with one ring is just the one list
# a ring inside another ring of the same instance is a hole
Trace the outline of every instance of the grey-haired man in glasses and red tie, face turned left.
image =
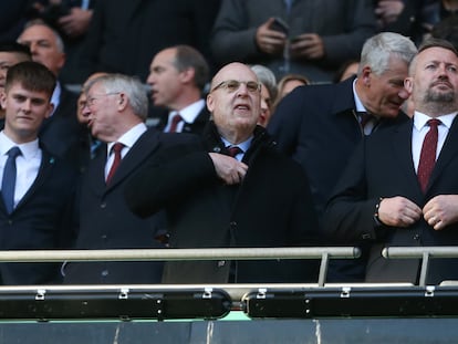
[[(166, 144), (164, 134), (148, 131), (144, 123), (148, 107), (144, 87), (134, 77), (108, 74), (91, 80), (85, 93), (83, 114), (87, 116), (92, 135), (106, 145), (98, 149), (84, 174), (75, 247), (162, 248), (155, 239), (158, 217), (140, 219), (124, 201), (127, 181)], [(163, 263), (70, 263), (63, 270), (65, 283), (157, 283)]]

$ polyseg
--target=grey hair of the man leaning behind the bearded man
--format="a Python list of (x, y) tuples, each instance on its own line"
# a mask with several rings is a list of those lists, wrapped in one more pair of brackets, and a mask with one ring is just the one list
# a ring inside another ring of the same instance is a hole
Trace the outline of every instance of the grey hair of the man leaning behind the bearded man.
[(409, 38), (394, 32), (378, 33), (363, 45), (358, 75), (364, 66), (369, 66), (376, 75), (382, 75), (388, 70), (389, 58), (398, 58), (409, 64), (416, 53), (417, 48)]

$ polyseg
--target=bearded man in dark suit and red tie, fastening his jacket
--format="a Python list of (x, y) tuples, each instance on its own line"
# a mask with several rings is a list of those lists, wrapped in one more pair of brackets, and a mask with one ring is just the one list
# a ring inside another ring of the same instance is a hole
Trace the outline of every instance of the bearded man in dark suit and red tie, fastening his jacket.
[[(325, 213), (333, 237), (373, 244), (369, 282), (418, 282), (419, 260), (385, 260), (384, 247), (458, 244), (457, 51), (446, 41), (425, 42), (405, 83), (413, 121), (358, 146)], [(433, 259), (427, 283), (446, 279), (458, 279), (458, 260)]]

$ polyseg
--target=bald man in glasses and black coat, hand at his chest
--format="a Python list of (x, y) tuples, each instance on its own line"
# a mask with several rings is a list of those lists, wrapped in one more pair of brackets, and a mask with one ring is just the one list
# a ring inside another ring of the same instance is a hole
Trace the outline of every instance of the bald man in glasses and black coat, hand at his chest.
[[(316, 244), (316, 219), (302, 168), (279, 153), (257, 126), (260, 83), (248, 65), (231, 63), (211, 82), (202, 139), (176, 145), (148, 164), (126, 189), (133, 211), (165, 207), (170, 247), (291, 247)], [(180, 136), (180, 135), (178, 135)], [(235, 157), (227, 156), (238, 147)], [(316, 281), (311, 261), (167, 262), (163, 282)]]

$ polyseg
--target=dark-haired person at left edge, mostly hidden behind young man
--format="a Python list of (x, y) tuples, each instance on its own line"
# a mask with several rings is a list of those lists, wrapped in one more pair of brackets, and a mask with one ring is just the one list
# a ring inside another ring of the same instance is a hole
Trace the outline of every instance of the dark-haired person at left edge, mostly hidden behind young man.
[[(28, 46), (17, 42), (0, 43), (0, 94), (4, 91), (8, 70), (22, 61), (31, 61), (32, 55)], [(0, 104), (0, 129), (4, 125), (4, 108)]]

